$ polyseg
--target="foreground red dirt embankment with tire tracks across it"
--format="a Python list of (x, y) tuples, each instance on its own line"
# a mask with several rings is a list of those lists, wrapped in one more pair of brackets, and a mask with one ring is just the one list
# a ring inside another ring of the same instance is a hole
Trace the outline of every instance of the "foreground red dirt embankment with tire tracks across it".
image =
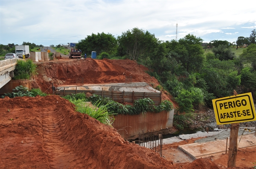
[[(209, 159), (173, 165), (124, 141), (59, 96), (0, 99), (0, 168), (218, 169)], [(199, 164), (200, 163), (200, 164)]]

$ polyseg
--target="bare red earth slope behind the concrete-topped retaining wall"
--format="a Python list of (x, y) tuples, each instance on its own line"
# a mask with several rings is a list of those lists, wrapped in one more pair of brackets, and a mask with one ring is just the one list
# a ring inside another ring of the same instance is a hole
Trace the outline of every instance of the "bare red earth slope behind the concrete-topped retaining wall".
[[(38, 62), (37, 62), (38, 63)], [(84, 78), (84, 84), (102, 83), (125, 83), (125, 77), (131, 76), (132, 82), (146, 82), (156, 88), (159, 82), (154, 77), (145, 73), (148, 68), (137, 64), (132, 60), (110, 60), (110, 59), (61, 59), (51, 62), (39, 62), (38, 76), (32, 82), (33, 88), (41, 88), (43, 92), (52, 93), (52, 82), (58, 86), (54, 79), (64, 81), (61, 85), (76, 85), (77, 78)], [(45, 80), (50, 78), (48, 82)], [(170, 100), (171, 96), (166, 91), (162, 92), (162, 100)], [(174, 101), (174, 106), (175, 104)]]

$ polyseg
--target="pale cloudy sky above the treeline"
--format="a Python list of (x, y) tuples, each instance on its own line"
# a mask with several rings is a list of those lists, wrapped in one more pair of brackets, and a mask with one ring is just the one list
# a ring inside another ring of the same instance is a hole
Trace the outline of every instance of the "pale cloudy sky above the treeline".
[(132, 28), (159, 40), (186, 34), (236, 41), (256, 29), (256, 0), (0, 0), (0, 44), (58, 45)]

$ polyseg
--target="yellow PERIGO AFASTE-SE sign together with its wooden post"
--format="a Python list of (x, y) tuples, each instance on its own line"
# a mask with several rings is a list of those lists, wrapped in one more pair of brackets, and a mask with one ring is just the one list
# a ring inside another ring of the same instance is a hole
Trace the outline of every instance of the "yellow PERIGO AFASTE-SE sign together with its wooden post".
[(217, 124), (231, 124), (227, 167), (235, 167), (239, 122), (256, 120), (252, 93), (237, 94), (234, 90), (234, 96), (213, 99), (212, 105)]

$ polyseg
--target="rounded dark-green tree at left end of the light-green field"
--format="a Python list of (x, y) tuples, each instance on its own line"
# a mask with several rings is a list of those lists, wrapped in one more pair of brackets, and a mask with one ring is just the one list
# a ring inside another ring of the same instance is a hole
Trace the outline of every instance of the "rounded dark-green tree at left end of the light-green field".
[(212, 52), (220, 60), (232, 60), (235, 57), (235, 53), (226, 45), (219, 45), (217, 48), (214, 47), (212, 48)]

